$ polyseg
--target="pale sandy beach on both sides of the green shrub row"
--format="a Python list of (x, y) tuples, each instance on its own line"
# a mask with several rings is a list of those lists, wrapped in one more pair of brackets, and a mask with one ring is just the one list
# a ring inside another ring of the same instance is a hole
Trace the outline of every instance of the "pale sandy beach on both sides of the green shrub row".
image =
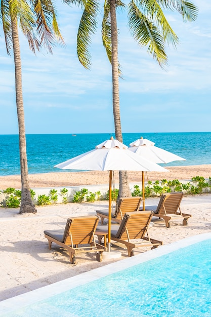
[[(194, 176), (211, 176), (210, 165), (186, 168), (169, 168), (170, 173), (162, 174), (161, 179), (191, 179)], [(74, 174), (74, 175), (72, 175)], [(139, 175), (129, 173), (130, 181), (136, 181)], [(152, 177), (152, 173), (148, 173)], [(137, 177), (137, 178), (136, 178)], [(152, 180), (155, 180), (154, 178)], [(140, 180), (139, 180), (140, 181)], [(30, 175), (31, 188), (73, 186), (81, 184), (104, 184), (108, 182), (106, 172), (84, 173), (49, 173)], [(19, 176), (0, 177), (0, 188), (20, 188)], [(159, 198), (148, 199), (146, 205), (156, 205)], [(96, 261), (95, 253), (76, 255), (76, 264), (70, 264), (68, 253), (53, 244), (48, 249), (44, 230), (63, 229), (67, 217), (95, 215), (97, 209), (108, 207), (107, 201), (95, 203), (66, 204), (37, 207), (36, 214), (19, 214), (19, 209), (0, 209), (0, 298), (1, 300), (64, 280), (71, 276), (104, 266), (117, 260)], [(166, 228), (164, 220), (153, 219), (150, 236), (163, 241), (163, 244), (181, 240), (188, 236), (211, 232), (211, 194), (185, 196), (182, 200), (182, 211), (192, 215), (188, 226), (179, 220), (172, 221)], [(96, 237), (97, 238), (97, 237)], [(122, 253), (121, 259), (127, 257), (125, 249), (113, 245), (114, 250)], [(162, 247), (160, 247), (162, 248)], [(135, 249), (135, 255), (149, 249)], [(120, 259), (120, 260), (121, 260)], [(118, 260), (119, 261), (119, 260)]]

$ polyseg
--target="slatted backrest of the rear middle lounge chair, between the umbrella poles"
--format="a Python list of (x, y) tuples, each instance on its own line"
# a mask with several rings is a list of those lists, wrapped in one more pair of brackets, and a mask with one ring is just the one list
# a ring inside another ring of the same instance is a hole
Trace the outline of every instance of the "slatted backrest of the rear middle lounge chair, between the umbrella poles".
[(122, 219), (125, 213), (138, 211), (142, 197), (124, 197), (119, 201), (119, 206), (116, 207), (114, 217), (116, 219)]

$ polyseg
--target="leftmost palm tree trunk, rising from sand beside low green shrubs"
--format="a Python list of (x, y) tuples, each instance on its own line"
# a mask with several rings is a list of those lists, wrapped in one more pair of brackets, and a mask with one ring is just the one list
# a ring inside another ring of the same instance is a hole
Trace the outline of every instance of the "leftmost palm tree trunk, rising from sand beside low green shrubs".
[(12, 25), (12, 41), (13, 53), (15, 62), (15, 90), (16, 90), (16, 105), (18, 114), (18, 128), (19, 128), (19, 150), (20, 150), (20, 168), (21, 168), (21, 206), (20, 214), (35, 213), (36, 208), (31, 199), (29, 178), (28, 178), (28, 164), (26, 155), (26, 134), (24, 122), (24, 107), (23, 107), (23, 93), (22, 93), (22, 72), (21, 72), (21, 54), (18, 36), (18, 26), (16, 19), (11, 16)]

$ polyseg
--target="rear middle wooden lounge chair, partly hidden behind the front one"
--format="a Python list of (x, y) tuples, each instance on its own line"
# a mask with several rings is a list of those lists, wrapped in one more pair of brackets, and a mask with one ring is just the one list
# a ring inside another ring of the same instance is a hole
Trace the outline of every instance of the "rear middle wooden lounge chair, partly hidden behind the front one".
[[(111, 214), (111, 221), (121, 222), (123, 216), (126, 212), (138, 211), (140, 204), (142, 201), (142, 197), (124, 197), (119, 200), (118, 205), (116, 204), (116, 208), (114, 213)], [(97, 215), (101, 218), (101, 224), (103, 224), (103, 220), (105, 218), (108, 219), (108, 210), (96, 210)]]

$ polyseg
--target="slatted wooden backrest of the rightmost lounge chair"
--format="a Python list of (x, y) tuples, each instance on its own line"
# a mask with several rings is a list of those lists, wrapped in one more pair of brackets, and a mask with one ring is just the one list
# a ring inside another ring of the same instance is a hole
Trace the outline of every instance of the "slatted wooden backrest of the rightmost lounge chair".
[[(163, 197), (162, 197), (163, 196)], [(175, 214), (183, 198), (183, 192), (168, 192), (162, 194), (156, 213), (160, 215)]]

